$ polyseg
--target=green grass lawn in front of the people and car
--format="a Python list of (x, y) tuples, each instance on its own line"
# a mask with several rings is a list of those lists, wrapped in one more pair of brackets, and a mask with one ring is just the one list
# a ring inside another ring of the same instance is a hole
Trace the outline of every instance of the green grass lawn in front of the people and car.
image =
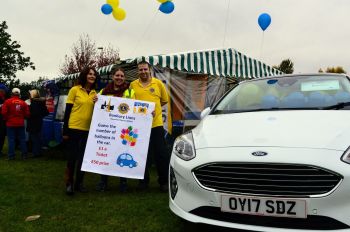
[[(4, 149), (6, 150), (6, 148)], [(46, 151), (41, 158), (7, 161), (0, 158), (0, 231), (218, 231), (184, 223), (168, 207), (152, 170), (151, 188), (136, 190), (129, 181), (127, 193), (118, 192), (119, 179), (110, 178), (110, 191), (95, 190), (99, 175), (87, 173), (88, 193), (64, 192), (64, 151)], [(26, 222), (31, 215), (40, 215)], [(222, 229), (219, 229), (222, 231)]]

